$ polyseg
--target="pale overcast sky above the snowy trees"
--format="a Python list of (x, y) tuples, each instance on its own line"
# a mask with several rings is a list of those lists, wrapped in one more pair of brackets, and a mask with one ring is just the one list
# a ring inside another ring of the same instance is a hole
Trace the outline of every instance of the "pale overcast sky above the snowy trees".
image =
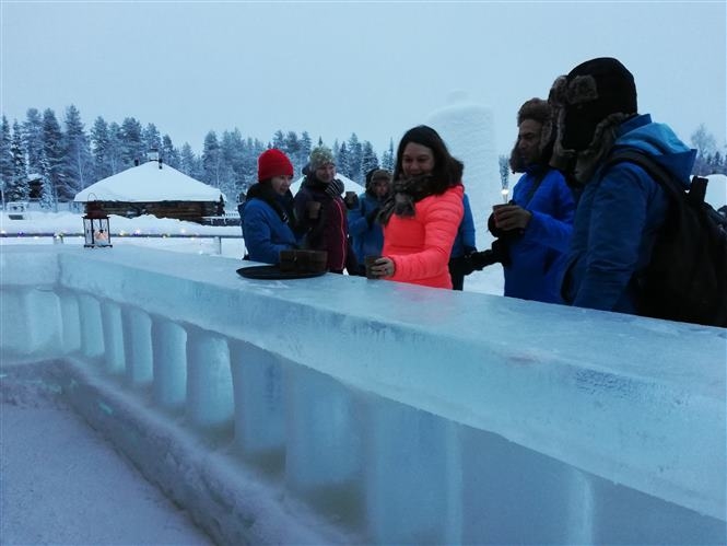
[(685, 141), (725, 143), (726, 2), (13, 2), (2, 0), (2, 114), (74, 104), (154, 123), (177, 147), (237, 127), (348, 139), (377, 152), (453, 91), (490, 106), (507, 153), (515, 114), (593, 57), (633, 73), (640, 112)]

